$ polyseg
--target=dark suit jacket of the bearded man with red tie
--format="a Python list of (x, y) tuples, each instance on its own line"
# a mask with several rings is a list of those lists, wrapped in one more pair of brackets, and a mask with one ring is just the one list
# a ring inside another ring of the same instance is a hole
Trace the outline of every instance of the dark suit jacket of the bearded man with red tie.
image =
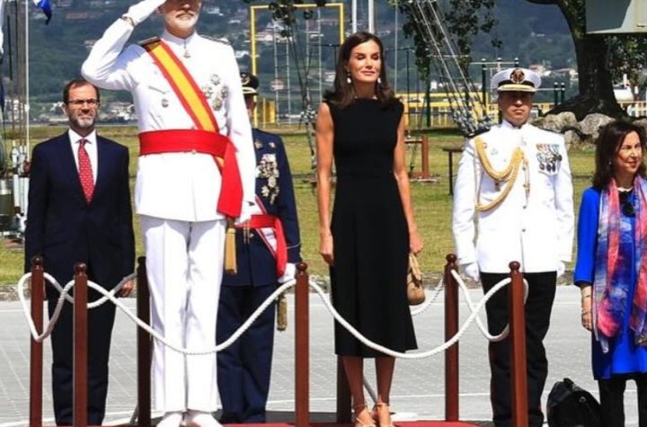
[[(128, 148), (97, 136), (96, 167), (93, 199), (87, 203), (67, 132), (34, 147), (25, 271), (32, 256), (42, 255), (45, 271), (65, 285), (75, 262), (85, 262), (89, 278), (106, 289), (133, 272)], [(53, 288), (47, 289), (51, 297)]]

